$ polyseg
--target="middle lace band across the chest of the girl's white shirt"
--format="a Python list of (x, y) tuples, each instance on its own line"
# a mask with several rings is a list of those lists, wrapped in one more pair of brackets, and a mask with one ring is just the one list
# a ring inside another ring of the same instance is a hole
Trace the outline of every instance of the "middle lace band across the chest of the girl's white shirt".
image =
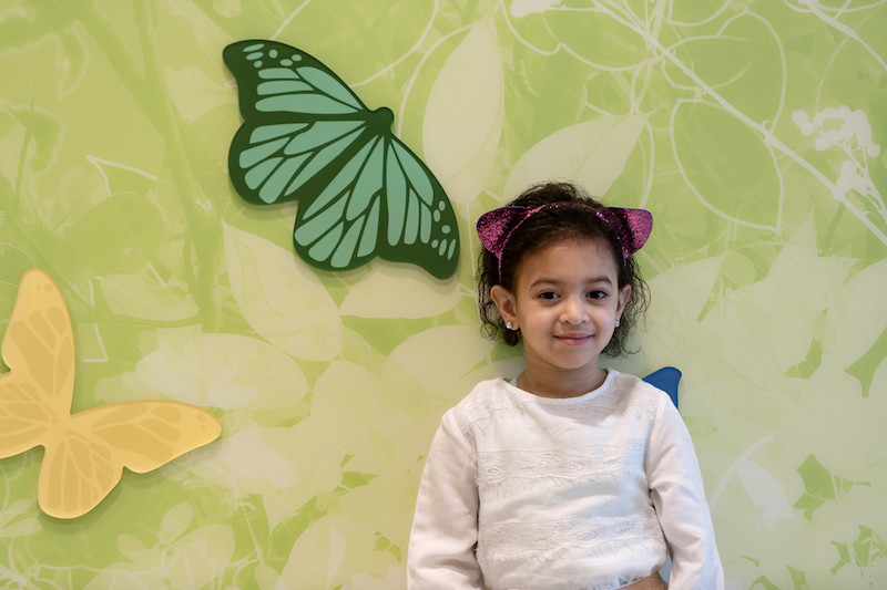
[(557, 451), (496, 451), (478, 454), (478, 487), (506, 493), (516, 488), (553, 489), (605, 478), (643, 479), (646, 441)]

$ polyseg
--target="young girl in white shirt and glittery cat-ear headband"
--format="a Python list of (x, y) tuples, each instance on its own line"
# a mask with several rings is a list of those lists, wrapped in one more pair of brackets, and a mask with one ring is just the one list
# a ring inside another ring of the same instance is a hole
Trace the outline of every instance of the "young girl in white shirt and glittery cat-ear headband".
[(665, 393), (599, 364), (626, 352), (645, 308), (632, 255), (651, 229), (650, 213), (569, 184), (478, 220), (481, 319), (523, 342), (527, 365), (445, 414), (416, 503), (411, 589), (723, 589), (681, 416)]

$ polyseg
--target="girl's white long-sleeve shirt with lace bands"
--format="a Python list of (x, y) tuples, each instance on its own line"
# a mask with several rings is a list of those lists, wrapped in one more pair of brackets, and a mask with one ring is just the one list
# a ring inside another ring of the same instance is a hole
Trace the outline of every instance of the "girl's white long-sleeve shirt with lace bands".
[(610, 590), (669, 553), (670, 590), (724, 588), (693, 443), (665, 393), (614, 370), (568, 398), (497, 379), (443, 415), (410, 589)]

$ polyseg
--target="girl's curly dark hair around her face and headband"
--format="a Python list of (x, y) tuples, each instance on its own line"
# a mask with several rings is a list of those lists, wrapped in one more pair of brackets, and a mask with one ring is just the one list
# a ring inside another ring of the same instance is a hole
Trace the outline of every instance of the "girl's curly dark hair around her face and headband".
[[(630, 284), (631, 297), (625, 303), (619, 327), (604, 348), (604, 354), (619, 356), (636, 351), (626, 348), (629, 333), (643, 317), (649, 306), (649, 289), (633, 256), (622, 258), (622, 248), (613, 228), (597, 215), (588, 215), (588, 207), (602, 208), (604, 205), (590, 197), (580, 186), (551, 182), (533, 185), (509, 203), (513, 206), (534, 208), (541, 205), (562, 204), (544, 208), (523, 221), (511, 235), (502, 252), (501, 272), (496, 255), (481, 248), (478, 257), (477, 288), (478, 309), (483, 322), (483, 333), (513, 346), (521, 341), (520, 331), (507, 330), (499, 309), (490, 297), (490, 289), (501, 284), (512, 290), (514, 272), (523, 256), (554, 242), (572, 239), (604, 240), (610, 245), (616, 263), (619, 288)], [(571, 205), (572, 204), (572, 205)], [(579, 214), (579, 215), (578, 215)]]

